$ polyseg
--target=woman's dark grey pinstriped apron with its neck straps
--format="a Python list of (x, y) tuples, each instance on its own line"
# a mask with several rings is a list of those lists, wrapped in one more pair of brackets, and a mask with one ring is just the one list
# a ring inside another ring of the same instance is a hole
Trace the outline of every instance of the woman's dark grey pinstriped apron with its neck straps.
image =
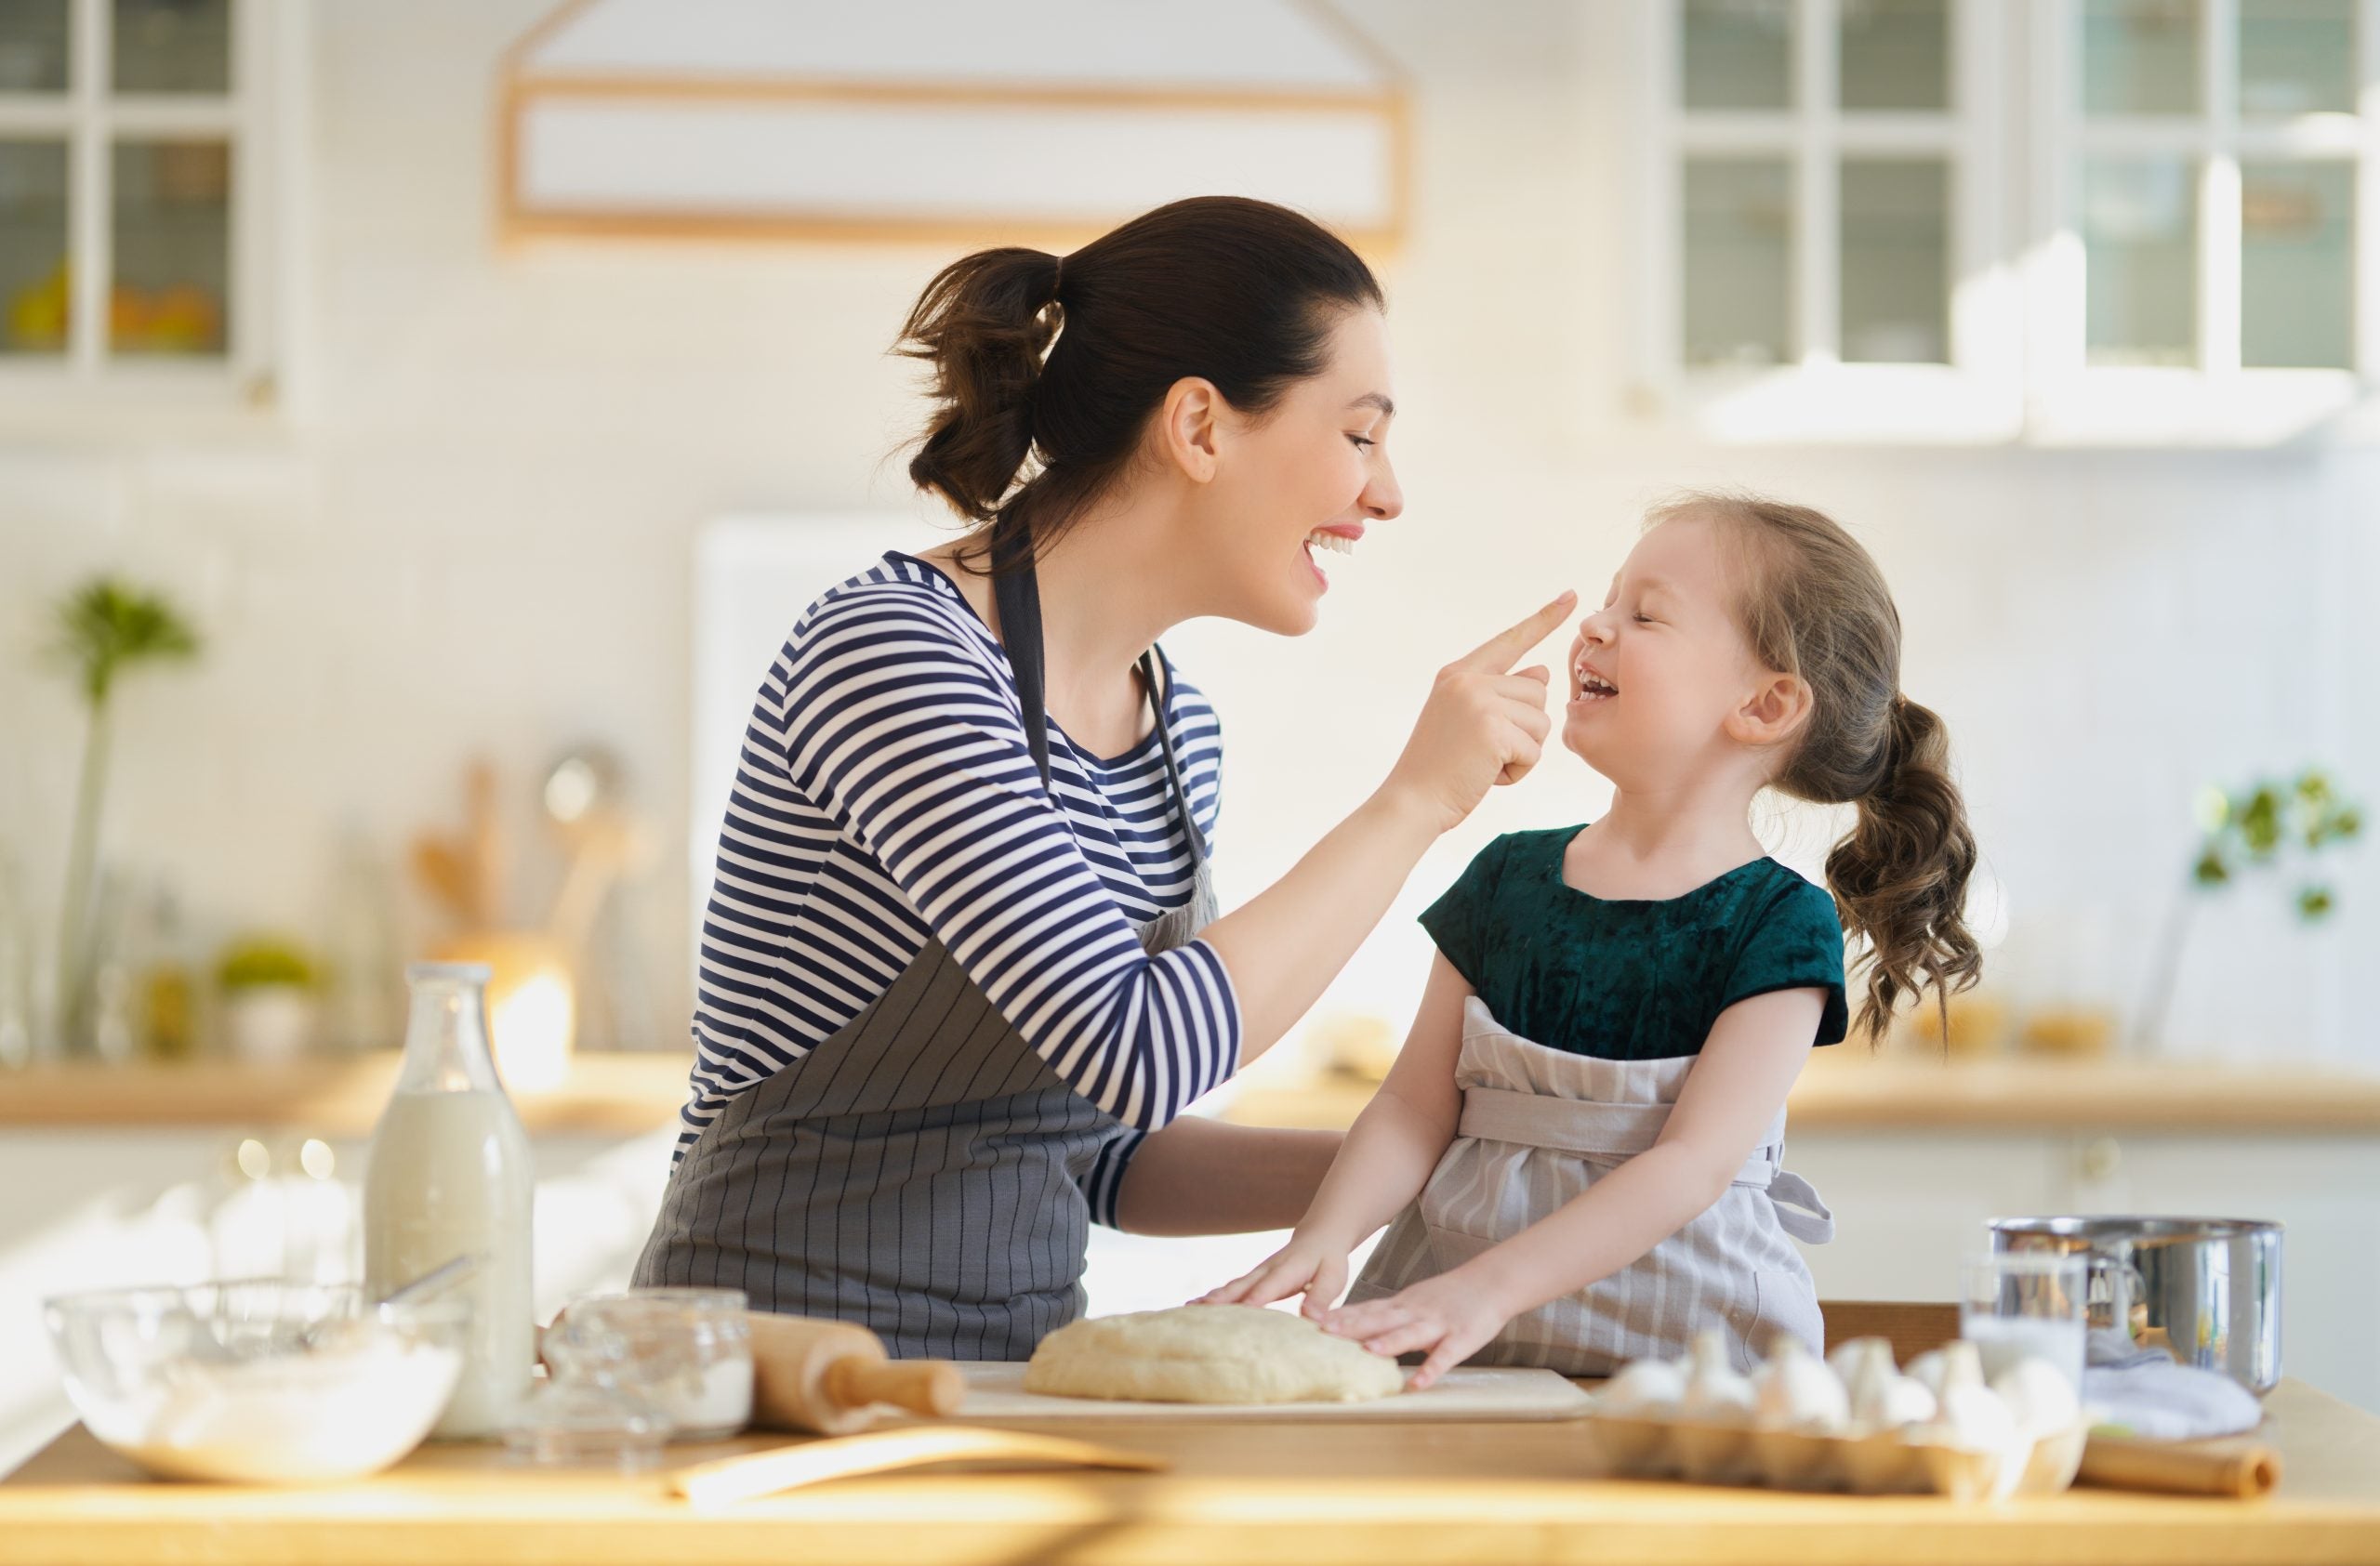
[[(1031, 566), (995, 593), (1050, 788)], [(1195, 869), (1190, 904), (1140, 926), (1164, 952), (1214, 919), (1214, 885), (1154, 657), (1140, 678)], [(1083, 1188), (1126, 1135), (928, 938), (833, 1038), (728, 1100), (678, 1164), (635, 1283), (740, 1288), (752, 1309), (854, 1321), (895, 1359), (1026, 1359), (1083, 1314)]]

